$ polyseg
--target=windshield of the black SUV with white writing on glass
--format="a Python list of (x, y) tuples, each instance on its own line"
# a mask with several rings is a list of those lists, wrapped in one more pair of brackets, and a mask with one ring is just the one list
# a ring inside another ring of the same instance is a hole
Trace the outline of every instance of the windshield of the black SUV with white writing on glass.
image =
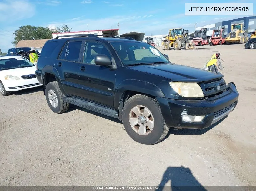
[(110, 42), (124, 65), (170, 63), (157, 49), (142, 42)]

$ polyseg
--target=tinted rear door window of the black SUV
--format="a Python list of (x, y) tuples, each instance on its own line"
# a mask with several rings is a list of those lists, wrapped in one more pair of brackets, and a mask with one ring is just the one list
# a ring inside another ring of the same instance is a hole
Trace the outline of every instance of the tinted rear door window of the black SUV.
[(78, 62), (82, 41), (69, 41), (65, 60)]

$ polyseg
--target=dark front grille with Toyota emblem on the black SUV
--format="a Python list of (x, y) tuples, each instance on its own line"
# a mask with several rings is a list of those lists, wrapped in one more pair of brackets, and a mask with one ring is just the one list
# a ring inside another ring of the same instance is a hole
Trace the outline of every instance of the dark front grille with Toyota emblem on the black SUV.
[[(219, 90), (217, 88), (218, 85), (220, 86)], [(204, 92), (204, 96), (217, 94), (218, 92), (223, 91), (225, 87), (226, 87), (226, 83), (223, 78), (209, 80), (201, 83), (201, 88)]]

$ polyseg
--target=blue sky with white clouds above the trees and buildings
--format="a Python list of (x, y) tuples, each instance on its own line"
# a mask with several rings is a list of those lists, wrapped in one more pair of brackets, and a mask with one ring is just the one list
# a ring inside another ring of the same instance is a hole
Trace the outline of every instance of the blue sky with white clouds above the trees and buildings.
[[(167, 34), (169, 28), (194, 30), (203, 26), (242, 16), (185, 16), (185, 3), (180, 0), (0, 0), (0, 47), (12, 46), (12, 32), (23, 25), (61, 27), (72, 31), (119, 28), (120, 33), (138, 31), (146, 35)], [(239, 3), (248, 0), (215, 0), (215, 3)], [(175, 5), (171, 9), (171, 5)], [(254, 4), (254, 10), (255, 4)], [(255, 14), (255, 11), (254, 11)], [(118, 27), (119, 22), (119, 27)], [(87, 27), (88, 25), (88, 27)]]

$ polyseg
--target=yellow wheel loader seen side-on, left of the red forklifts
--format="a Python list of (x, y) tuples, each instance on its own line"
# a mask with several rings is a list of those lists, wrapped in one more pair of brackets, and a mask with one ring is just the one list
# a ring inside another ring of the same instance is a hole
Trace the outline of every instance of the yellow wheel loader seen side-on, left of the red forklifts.
[(182, 28), (170, 29), (169, 35), (162, 42), (165, 50), (173, 47), (175, 50), (180, 50), (181, 47), (185, 49), (193, 49), (194, 43), (188, 39), (188, 30)]

